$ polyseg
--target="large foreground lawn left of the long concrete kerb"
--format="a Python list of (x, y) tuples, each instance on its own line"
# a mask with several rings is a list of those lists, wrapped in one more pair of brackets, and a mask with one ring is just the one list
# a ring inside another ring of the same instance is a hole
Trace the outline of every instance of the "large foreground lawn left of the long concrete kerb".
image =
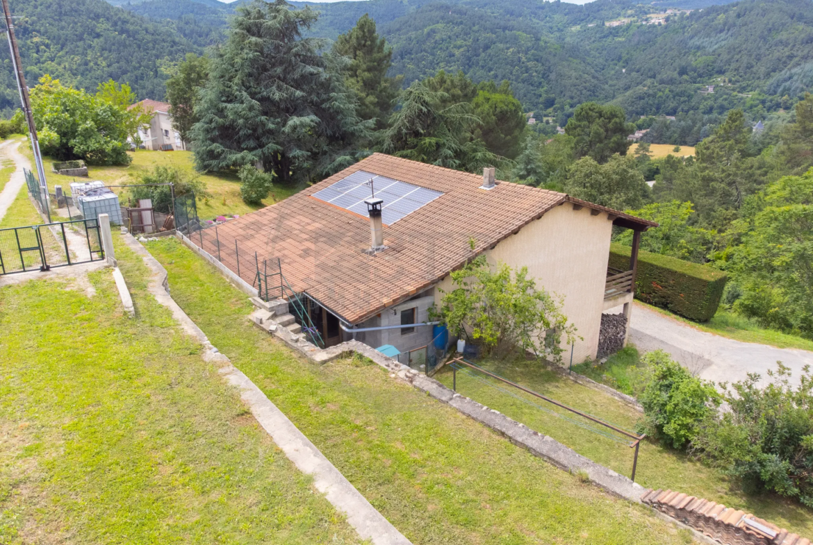
[(0, 288), (0, 543), (358, 543), (118, 244), (111, 271)]

